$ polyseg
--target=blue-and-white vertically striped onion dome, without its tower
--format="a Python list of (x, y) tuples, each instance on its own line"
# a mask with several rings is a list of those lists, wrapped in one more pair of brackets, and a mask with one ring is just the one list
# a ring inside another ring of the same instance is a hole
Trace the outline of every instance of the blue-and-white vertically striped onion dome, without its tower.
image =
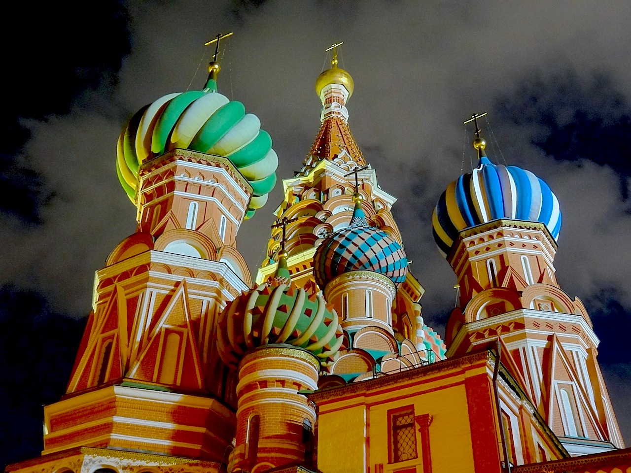
[(555, 241), (561, 230), (557, 196), (543, 180), (481, 156), (473, 172), (461, 175), (440, 196), (432, 215), (434, 240), (446, 257), (462, 230), (498, 218), (543, 223)]

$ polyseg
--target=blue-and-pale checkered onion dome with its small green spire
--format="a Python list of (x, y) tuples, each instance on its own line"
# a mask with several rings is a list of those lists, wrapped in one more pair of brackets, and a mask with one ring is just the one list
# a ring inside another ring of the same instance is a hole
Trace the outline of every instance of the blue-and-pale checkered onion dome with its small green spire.
[(345, 272), (366, 270), (389, 277), (396, 287), (408, 274), (408, 259), (399, 242), (385, 231), (369, 226), (362, 210), (362, 196), (355, 194), (355, 210), (348, 227), (329, 235), (314, 255), (315, 282), (325, 288)]

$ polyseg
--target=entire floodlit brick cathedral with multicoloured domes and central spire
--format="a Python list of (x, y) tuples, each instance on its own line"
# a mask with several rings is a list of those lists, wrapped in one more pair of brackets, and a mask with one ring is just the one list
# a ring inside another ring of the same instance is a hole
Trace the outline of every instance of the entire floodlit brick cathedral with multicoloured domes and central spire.
[[(315, 80), (321, 127), (288, 177), (256, 115), (221, 94), (223, 37), (202, 90), (122, 129), (136, 233), (95, 274), (42, 455), (6, 472), (630, 473), (599, 339), (557, 283), (562, 202), (542, 177), (493, 163), (472, 115), (477, 166), (445, 182), (421, 229), (457, 276), (442, 339), (396, 197), (348, 126), (339, 44)], [(237, 234), (277, 173), (252, 281)]]

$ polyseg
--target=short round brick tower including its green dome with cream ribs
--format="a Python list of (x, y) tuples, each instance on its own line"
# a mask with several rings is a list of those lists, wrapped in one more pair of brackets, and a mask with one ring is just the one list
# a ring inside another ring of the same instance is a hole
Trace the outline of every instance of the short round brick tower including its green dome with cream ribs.
[(315, 409), (300, 392), (317, 389), (321, 363), (343, 344), (336, 312), (292, 284), (281, 252), (275, 277), (221, 313), (221, 358), (239, 372), (237, 435), (230, 472), (311, 466)]

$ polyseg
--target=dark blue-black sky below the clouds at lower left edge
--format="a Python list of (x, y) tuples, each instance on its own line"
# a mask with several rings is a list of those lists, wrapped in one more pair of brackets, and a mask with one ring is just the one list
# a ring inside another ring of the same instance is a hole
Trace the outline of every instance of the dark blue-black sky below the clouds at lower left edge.
[(38, 293), (0, 287), (0, 467), (42, 451), (42, 406), (64, 392), (84, 324)]

